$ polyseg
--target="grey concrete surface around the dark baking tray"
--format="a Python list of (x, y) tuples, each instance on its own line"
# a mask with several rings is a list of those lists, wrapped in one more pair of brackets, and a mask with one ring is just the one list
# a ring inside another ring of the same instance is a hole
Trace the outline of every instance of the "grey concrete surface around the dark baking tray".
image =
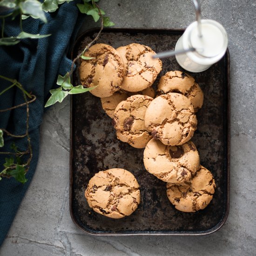
[[(101, 0), (100, 5), (116, 27), (185, 28), (195, 16), (191, 2)], [(68, 209), (67, 99), (44, 115), (37, 170), (0, 248), (1, 256), (256, 255), (256, 1), (202, 0), (202, 14), (226, 28), (231, 55), (230, 211), (222, 229), (195, 237), (81, 233)], [(94, 25), (87, 17), (83, 29)]]

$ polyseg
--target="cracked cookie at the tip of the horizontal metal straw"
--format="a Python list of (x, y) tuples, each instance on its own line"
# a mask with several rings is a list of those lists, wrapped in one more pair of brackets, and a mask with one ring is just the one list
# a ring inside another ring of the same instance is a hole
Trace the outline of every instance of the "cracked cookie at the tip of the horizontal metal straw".
[(121, 89), (138, 92), (154, 83), (162, 70), (162, 61), (151, 58), (155, 52), (150, 47), (133, 43), (116, 50), (121, 55), (126, 70)]

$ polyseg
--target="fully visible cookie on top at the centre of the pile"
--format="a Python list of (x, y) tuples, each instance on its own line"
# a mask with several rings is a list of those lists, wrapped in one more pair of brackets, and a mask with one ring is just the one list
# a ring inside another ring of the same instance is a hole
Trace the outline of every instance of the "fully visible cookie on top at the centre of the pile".
[(155, 98), (145, 114), (145, 125), (155, 139), (165, 145), (182, 145), (196, 130), (197, 119), (189, 99), (168, 93)]

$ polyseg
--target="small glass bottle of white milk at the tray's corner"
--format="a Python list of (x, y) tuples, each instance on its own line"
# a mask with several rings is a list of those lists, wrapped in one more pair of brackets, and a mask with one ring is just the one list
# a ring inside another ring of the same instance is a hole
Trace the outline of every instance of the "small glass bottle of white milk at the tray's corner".
[(195, 51), (175, 54), (179, 65), (190, 72), (209, 68), (222, 58), (228, 46), (227, 33), (220, 23), (201, 20), (198, 25), (198, 21), (191, 23), (175, 46), (175, 51), (195, 48)]

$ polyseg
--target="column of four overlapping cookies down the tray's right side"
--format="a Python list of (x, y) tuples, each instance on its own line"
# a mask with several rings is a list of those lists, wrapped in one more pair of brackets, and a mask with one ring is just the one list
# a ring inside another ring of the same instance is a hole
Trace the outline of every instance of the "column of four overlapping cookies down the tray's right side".
[(144, 150), (149, 173), (167, 182), (167, 195), (176, 209), (195, 212), (212, 200), (215, 181), (200, 165), (195, 144), (190, 141), (197, 126), (195, 112), (203, 93), (195, 79), (180, 71), (161, 77), (157, 95), (145, 113), (151, 139)]

